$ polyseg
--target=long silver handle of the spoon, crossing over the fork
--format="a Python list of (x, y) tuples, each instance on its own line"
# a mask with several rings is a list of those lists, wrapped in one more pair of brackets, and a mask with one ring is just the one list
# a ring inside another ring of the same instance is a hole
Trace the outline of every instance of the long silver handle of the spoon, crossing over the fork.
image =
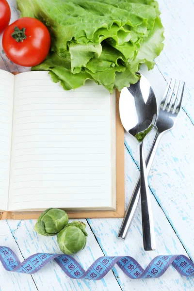
[(143, 142), (140, 143), (140, 185), (141, 185), (141, 206), (142, 206), (142, 228), (144, 249), (152, 251), (156, 249), (154, 223), (151, 209), (151, 200), (147, 182), (146, 163), (143, 151)]

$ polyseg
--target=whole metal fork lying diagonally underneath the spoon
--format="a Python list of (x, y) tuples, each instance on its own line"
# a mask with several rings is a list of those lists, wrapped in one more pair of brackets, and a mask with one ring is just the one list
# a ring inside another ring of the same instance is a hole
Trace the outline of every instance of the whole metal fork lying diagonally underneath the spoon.
[[(177, 83), (178, 85), (176, 86)], [(171, 89), (171, 84), (172, 84), (172, 89)], [(172, 79), (167, 85), (166, 91), (164, 93), (164, 96), (162, 98), (162, 102), (159, 108), (158, 119), (156, 121), (155, 128), (157, 130), (157, 133), (146, 159), (147, 174), (150, 171), (150, 168), (154, 160), (154, 156), (156, 154), (156, 150), (158, 148), (162, 134), (172, 129), (175, 126), (177, 116), (180, 111), (180, 107), (182, 103), (184, 85), (185, 85), (184, 82), (182, 84), (180, 83), (180, 81), (176, 81), (176, 80), (172, 82)], [(178, 96), (179, 96), (179, 99), (177, 101)], [(122, 225), (118, 232), (118, 238), (121, 238), (123, 240), (126, 239), (131, 222), (133, 220), (135, 211), (138, 206), (139, 198), (140, 198), (140, 178), (137, 181), (137, 184), (135, 186), (135, 189), (129, 201), (128, 208), (125, 212), (125, 217), (123, 219)]]

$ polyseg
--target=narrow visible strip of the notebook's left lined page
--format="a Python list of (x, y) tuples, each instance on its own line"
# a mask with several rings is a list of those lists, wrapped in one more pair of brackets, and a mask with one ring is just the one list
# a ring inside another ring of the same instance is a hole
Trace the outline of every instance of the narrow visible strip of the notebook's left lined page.
[(14, 75), (0, 70), (0, 210), (8, 206), (13, 97)]

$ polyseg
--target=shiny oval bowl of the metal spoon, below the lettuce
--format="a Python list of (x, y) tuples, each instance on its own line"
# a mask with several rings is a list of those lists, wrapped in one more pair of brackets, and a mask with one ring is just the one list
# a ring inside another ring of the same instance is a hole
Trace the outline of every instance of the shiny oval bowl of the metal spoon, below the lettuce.
[(136, 84), (123, 88), (119, 111), (124, 129), (143, 141), (157, 119), (156, 97), (146, 77), (141, 75)]

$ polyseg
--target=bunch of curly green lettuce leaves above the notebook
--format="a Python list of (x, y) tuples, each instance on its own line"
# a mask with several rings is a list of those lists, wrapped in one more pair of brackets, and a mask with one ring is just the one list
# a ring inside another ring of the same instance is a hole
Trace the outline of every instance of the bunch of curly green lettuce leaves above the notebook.
[(110, 92), (139, 80), (163, 49), (163, 27), (154, 0), (17, 0), (21, 16), (42, 21), (51, 35), (46, 70), (65, 90), (90, 79)]

